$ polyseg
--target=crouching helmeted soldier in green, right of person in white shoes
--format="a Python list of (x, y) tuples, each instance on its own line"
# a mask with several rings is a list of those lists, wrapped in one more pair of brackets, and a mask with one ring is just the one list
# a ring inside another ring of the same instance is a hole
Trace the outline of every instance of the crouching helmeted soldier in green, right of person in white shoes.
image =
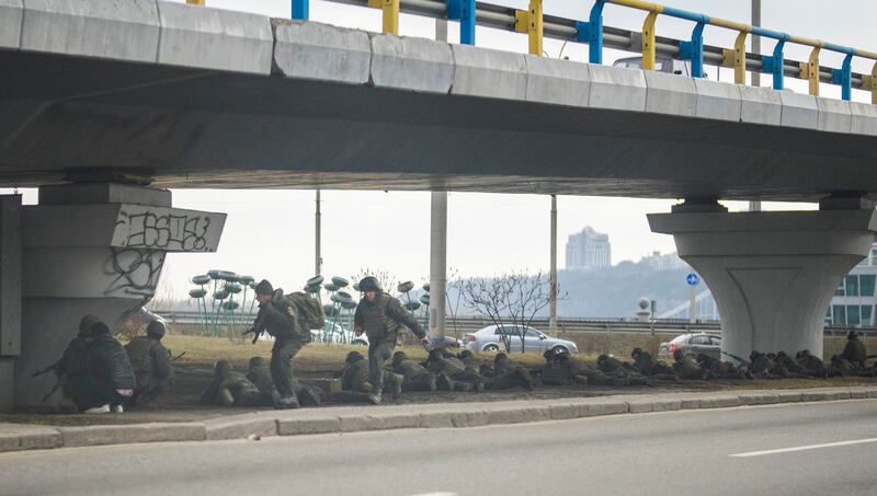
[(146, 326), (146, 336), (137, 336), (125, 345), (137, 378), (132, 397), (135, 406), (153, 404), (158, 395), (173, 384), (170, 353), (161, 344), (164, 331), (163, 322), (152, 321)]

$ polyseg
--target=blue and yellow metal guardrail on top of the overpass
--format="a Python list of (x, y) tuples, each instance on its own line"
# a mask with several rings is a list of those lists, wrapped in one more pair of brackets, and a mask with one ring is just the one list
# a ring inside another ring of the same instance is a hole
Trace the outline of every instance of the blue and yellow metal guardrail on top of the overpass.
[[(186, 0), (187, 3), (204, 5), (205, 0)], [(664, 54), (674, 58), (692, 61), (692, 76), (703, 77), (705, 62), (716, 66), (732, 67), (734, 82), (745, 84), (747, 71), (761, 71), (773, 74), (773, 88), (782, 90), (784, 77), (790, 76), (809, 82), (811, 95), (819, 95), (819, 83), (825, 82), (841, 86), (841, 97), (852, 99), (852, 89), (861, 89), (872, 93), (872, 103), (877, 104), (877, 53), (861, 50), (854, 47), (836, 45), (820, 39), (795, 36), (783, 32), (752, 26), (745, 23), (713, 18), (706, 14), (688, 12), (660, 3), (640, 0), (596, 0), (590, 11), (588, 21), (579, 21), (543, 14), (543, 0), (529, 0), (527, 10), (477, 2), (475, 0), (329, 0), (360, 7), (381, 9), (385, 33), (398, 34), (399, 13), (411, 13), (430, 18), (459, 21), (460, 44), (475, 45), (475, 27), (494, 27), (499, 30), (526, 33), (529, 38), (529, 53), (543, 55), (543, 38), (549, 37), (565, 42), (585, 43), (589, 45), (591, 64), (603, 64), (603, 48), (623, 50), (641, 50), (642, 68), (654, 70), (656, 54)], [(309, 18), (309, 0), (291, 0), (292, 19)], [(603, 8), (606, 3), (627, 7), (648, 12), (642, 24), (642, 32), (630, 32), (603, 25)], [(659, 15), (671, 16), (695, 23), (690, 39), (679, 41), (662, 38), (656, 35), (656, 20)], [(732, 49), (704, 45), (703, 31), (706, 25), (738, 32)], [(763, 36), (776, 41), (772, 55), (750, 54), (745, 51), (748, 35)], [(809, 60), (785, 60), (783, 50), (787, 43), (809, 46)], [(821, 50), (845, 55), (841, 68), (819, 65)], [(870, 74), (852, 71), (853, 57), (874, 60)]]

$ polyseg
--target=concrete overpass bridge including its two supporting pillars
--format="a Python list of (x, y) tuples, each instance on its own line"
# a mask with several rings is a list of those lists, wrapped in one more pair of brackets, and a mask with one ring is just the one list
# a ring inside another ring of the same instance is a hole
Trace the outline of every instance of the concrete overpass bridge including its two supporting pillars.
[[(216, 250), (225, 217), (156, 187), (684, 198), (650, 223), (709, 282), (736, 355), (821, 353), (824, 308), (877, 230), (872, 104), (155, 0), (0, 0), (0, 184), (41, 187), (0, 218), (7, 408), (38, 404), (48, 381), (29, 373), (79, 316), (113, 322), (151, 297), (164, 253)], [(782, 53), (775, 67), (782, 81)]]

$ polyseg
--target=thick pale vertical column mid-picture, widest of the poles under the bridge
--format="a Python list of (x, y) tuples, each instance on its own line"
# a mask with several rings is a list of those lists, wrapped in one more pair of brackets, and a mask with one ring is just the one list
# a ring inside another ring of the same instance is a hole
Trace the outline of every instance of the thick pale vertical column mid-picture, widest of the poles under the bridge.
[[(445, 335), (447, 290), (447, 193), (432, 192), (430, 214), (430, 335)], [(444, 345), (444, 341), (438, 343)]]

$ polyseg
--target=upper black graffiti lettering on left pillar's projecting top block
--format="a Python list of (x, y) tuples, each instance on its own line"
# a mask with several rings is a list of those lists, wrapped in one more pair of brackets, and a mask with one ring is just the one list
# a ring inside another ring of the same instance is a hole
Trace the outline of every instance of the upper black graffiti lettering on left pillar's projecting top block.
[(197, 212), (171, 209), (129, 212), (121, 210), (116, 232), (122, 233), (119, 244), (128, 247), (166, 250), (174, 252), (202, 252), (208, 250), (207, 233), (210, 217)]

